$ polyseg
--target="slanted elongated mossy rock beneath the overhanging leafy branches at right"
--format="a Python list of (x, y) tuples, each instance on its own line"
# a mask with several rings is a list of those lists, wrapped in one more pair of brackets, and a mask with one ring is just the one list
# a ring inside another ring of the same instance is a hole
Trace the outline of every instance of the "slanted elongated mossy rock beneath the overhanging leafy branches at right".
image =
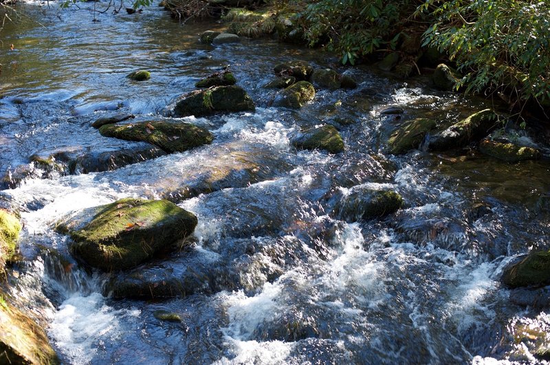
[(443, 151), (461, 148), (487, 136), (497, 126), (498, 115), (493, 110), (485, 109), (454, 123), (449, 128), (434, 134), (430, 138), (430, 150)]

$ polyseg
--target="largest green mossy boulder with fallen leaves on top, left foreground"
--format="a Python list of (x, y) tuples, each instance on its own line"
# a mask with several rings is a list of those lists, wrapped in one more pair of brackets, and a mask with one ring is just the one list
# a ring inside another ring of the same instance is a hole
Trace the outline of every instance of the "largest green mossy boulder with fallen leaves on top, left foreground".
[(168, 200), (126, 198), (88, 209), (60, 222), (58, 231), (73, 239), (70, 250), (103, 271), (133, 268), (184, 239), (197, 217)]

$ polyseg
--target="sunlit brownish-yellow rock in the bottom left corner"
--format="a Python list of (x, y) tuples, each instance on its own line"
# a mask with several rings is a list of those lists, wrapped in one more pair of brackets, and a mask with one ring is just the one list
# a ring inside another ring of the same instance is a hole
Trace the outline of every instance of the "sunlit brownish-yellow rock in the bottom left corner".
[(59, 364), (45, 331), (0, 290), (0, 364)]

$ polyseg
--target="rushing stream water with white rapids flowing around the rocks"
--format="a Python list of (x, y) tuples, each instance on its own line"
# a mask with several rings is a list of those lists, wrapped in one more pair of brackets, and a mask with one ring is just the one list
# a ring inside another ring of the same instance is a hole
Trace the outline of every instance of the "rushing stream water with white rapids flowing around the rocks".
[[(25, 224), (12, 294), (45, 320), (63, 363), (544, 362), (533, 353), (550, 344), (547, 303), (521, 306), (499, 277), (517, 255), (549, 246), (550, 164), (475, 150), (385, 152), (400, 123), (380, 114), (388, 106), (407, 119), (455, 121), (488, 102), (358, 67), (340, 70), (358, 89), (318, 91), (298, 111), (274, 108), (261, 85), (275, 64), (336, 60), (274, 40), (201, 45), (197, 34), (218, 24), (181, 25), (155, 6), (98, 22), (56, 3), (19, 14), (0, 33), (0, 198)], [(90, 126), (113, 113), (164, 119), (173, 99), (227, 65), (257, 108), (183, 119), (208, 128), (212, 145), (165, 155)], [(151, 80), (127, 79), (135, 69)], [(324, 123), (338, 126), (345, 152), (289, 143)], [(109, 159), (120, 151), (126, 157)], [(50, 155), (60, 168), (30, 159)], [(393, 189), (405, 206), (383, 220), (333, 214), (365, 189)], [(129, 196), (195, 213), (192, 243), (130, 272), (78, 265), (56, 222)], [(157, 310), (181, 321), (157, 320)]]

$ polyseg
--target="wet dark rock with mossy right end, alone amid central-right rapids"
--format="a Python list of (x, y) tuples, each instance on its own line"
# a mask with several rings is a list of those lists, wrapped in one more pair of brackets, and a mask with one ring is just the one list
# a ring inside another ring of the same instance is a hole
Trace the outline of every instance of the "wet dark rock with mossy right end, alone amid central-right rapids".
[(402, 205), (403, 198), (395, 191), (356, 187), (340, 197), (330, 215), (346, 222), (357, 222), (385, 217)]

